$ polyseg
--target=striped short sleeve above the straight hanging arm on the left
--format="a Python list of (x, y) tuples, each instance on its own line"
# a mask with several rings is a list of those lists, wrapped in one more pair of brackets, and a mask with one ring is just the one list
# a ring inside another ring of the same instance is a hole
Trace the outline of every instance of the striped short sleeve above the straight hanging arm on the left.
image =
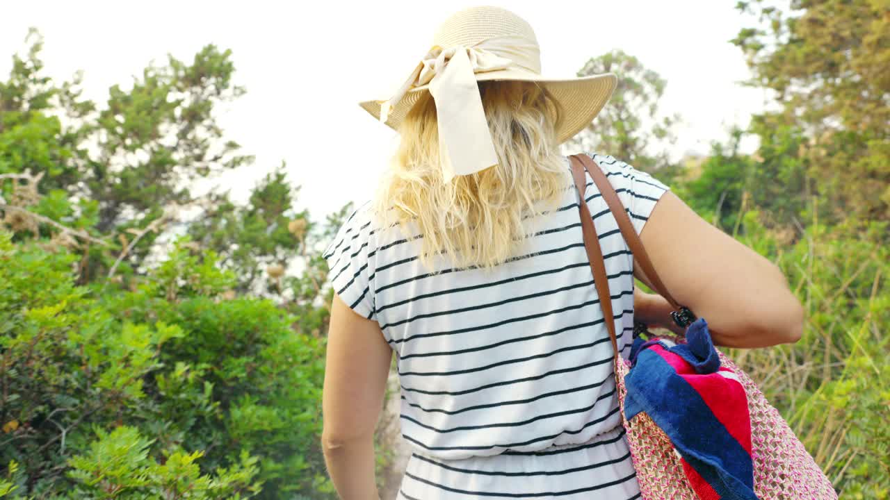
[(349, 216), (322, 256), (336, 294), (350, 309), (376, 320), (374, 254), (374, 224), (366, 204)]

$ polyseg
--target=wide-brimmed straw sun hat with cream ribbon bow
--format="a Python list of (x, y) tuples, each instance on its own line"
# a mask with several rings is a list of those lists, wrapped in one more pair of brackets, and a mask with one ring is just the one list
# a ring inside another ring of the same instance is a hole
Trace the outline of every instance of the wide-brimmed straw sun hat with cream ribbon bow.
[(476, 82), (538, 82), (559, 104), (556, 124), (560, 143), (594, 119), (615, 90), (610, 74), (592, 77), (541, 76), (538, 39), (525, 20), (499, 7), (472, 7), (445, 20), (433, 36), (433, 47), (392, 98), (360, 106), (398, 130), (421, 93), (433, 94), (439, 121), (442, 173), (479, 172), (498, 164)]

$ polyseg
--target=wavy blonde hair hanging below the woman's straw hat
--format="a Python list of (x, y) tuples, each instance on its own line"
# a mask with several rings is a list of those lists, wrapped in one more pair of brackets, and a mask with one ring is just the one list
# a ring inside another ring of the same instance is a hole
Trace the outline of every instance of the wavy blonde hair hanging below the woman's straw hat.
[(421, 262), (443, 254), (456, 267), (490, 268), (518, 254), (530, 215), (554, 209), (568, 182), (554, 125), (561, 110), (533, 82), (479, 83), (497, 166), (445, 182), (435, 102), (425, 93), (401, 123), (399, 148), (376, 196), (384, 224), (411, 222)]

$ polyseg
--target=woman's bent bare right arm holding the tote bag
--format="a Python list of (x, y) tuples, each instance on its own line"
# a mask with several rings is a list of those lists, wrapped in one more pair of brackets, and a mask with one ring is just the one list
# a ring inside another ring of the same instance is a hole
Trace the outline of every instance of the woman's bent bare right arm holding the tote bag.
[(673, 193), (659, 199), (640, 238), (667, 290), (708, 321), (715, 343), (765, 347), (800, 338), (804, 310), (781, 270)]

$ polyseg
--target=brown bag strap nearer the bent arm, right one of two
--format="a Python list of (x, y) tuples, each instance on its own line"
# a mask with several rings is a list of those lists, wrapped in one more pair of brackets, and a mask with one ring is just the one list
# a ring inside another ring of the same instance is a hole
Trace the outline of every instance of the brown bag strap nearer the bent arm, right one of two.
[(581, 165), (584, 165), (584, 169), (587, 170), (587, 173), (590, 174), (590, 177), (596, 183), (596, 187), (600, 190), (600, 193), (603, 194), (603, 200), (605, 200), (606, 205), (608, 205), (609, 210), (611, 210), (612, 216), (615, 217), (615, 220), (618, 222), (621, 235), (627, 242), (627, 246), (630, 248), (631, 253), (634, 254), (634, 260), (640, 265), (643, 275), (646, 278), (649, 278), (655, 291), (667, 299), (667, 302), (669, 302), (675, 310), (684, 309), (683, 306), (681, 306), (679, 302), (676, 302), (674, 297), (667, 291), (667, 286), (665, 286), (661, 281), (661, 278), (659, 278), (659, 273), (655, 270), (655, 266), (653, 266), (652, 262), (649, 260), (649, 254), (646, 254), (646, 249), (643, 247), (643, 241), (640, 239), (639, 235), (636, 234), (634, 225), (630, 222), (630, 217), (627, 216), (624, 205), (618, 198), (618, 193), (615, 192), (615, 188), (612, 187), (611, 182), (606, 178), (603, 169), (600, 168), (600, 165), (596, 165), (596, 162), (587, 155), (579, 154), (573, 155), (573, 157), (577, 157), (578, 161), (581, 162)]

